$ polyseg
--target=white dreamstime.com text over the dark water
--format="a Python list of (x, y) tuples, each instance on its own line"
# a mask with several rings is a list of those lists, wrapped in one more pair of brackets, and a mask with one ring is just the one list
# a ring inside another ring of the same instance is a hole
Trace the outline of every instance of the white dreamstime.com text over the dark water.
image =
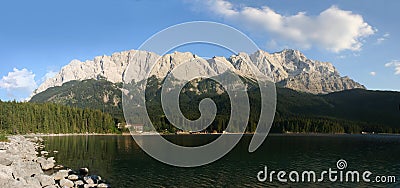
[(369, 170), (346, 170), (347, 162), (340, 159), (336, 163), (336, 168), (329, 168), (324, 171), (275, 171), (268, 170), (267, 166), (257, 173), (257, 180), (260, 182), (366, 182), (366, 183), (396, 183), (396, 176), (376, 175)]

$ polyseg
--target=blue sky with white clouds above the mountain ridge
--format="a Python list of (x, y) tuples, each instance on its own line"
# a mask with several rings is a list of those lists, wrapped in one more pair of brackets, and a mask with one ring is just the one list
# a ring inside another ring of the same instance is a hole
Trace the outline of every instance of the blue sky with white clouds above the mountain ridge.
[[(400, 90), (400, 1), (6, 0), (0, 6), (0, 99), (21, 100), (73, 59), (137, 49), (158, 31), (216, 21), (268, 52), (299, 49), (368, 89)], [(187, 46), (200, 56), (224, 50)]]

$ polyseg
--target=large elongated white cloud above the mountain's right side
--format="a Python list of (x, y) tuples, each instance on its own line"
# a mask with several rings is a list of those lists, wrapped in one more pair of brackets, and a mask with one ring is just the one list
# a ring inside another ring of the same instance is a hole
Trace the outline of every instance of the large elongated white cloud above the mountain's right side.
[(318, 46), (329, 51), (359, 51), (363, 38), (376, 32), (363, 17), (332, 6), (319, 15), (306, 12), (282, 15), (267, 6), (260, 8), (235, 6), (226, 0), (196, 1), (207, 11), (236, 22), (244, 28), (296, 45), (300, 48)]

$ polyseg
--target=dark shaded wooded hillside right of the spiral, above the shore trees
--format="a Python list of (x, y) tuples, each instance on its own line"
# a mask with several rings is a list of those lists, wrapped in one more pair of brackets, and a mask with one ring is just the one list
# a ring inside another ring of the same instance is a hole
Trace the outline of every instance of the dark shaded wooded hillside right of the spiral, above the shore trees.
[(301, 127), (325, 122), (325, 126), (338, 124), (346, 133), (400, 133), (399, 92), (353, 89), (312, 95), (284, 88), (277, 92), (275, 123), (287, 120)]

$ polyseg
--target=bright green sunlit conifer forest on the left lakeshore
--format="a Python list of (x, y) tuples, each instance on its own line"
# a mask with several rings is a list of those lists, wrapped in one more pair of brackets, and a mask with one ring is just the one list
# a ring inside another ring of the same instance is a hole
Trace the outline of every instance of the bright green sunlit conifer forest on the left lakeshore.
[(116, 133), (110, 114), (52, 103), (0, 101), (0, 132), (26, 133)]

